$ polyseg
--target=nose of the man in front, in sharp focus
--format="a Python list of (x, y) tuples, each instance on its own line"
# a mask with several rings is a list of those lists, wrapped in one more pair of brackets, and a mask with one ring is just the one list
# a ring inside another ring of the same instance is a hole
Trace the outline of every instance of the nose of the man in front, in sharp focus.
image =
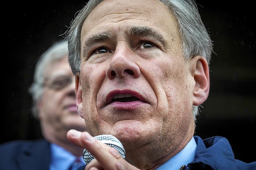
[(134, 54), (128, 50), (116, 50), (106, 69), (106, 76), (109, 79), (113, 79), (115, 77), (125, 78), (127, 76), (138, 78), (140, 76), (140, 68), (132, 61), (132, 55)]

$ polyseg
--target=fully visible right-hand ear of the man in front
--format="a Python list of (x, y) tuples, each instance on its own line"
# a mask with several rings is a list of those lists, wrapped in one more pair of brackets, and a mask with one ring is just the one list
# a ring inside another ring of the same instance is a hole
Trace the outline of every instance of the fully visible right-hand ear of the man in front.
[(203, 56), (196, 55), (190, 60), (191, 74), (194, 77), (193, 105), (201, 105), (209, 95), (209, 66)]

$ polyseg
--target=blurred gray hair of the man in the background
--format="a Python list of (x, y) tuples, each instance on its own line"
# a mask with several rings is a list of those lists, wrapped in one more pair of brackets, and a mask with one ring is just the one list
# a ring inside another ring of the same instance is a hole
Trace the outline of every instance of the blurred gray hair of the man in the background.
[(48, 48), (39, 58), (36, 63), (34, 81), (29, 88), (29, 92), (33, 98), (32, 112), (34, 117), (38, 118), (37, 102), (41, 99), (43, 94), (44, 74), (45, 69), (52, 62), (60, 60), (68, 56), (68, 43), (67, 41), (55, 42)]

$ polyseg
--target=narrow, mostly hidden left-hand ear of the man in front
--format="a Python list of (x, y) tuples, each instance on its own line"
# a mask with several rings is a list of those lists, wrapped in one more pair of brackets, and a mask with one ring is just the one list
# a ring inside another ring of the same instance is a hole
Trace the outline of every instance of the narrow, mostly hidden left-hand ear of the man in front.
[(83, 105), (82, 105), (82, 86), (81, 86), (81, 80), (80, 80), (80, 72), (77, 72), (75, 75), (75, 81), (76, 81), (76, 107), (79, 115), (84, 118), (83, 114)]

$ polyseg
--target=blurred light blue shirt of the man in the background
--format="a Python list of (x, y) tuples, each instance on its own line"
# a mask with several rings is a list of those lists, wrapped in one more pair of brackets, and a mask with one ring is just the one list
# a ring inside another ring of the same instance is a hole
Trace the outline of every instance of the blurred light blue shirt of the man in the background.
[[(76, 156), (56, 144), (51, 144), (51, 156), (50, 170), (68, 170), (76, 160)], [(84, 163), (82, 156), (79, 159)]]

